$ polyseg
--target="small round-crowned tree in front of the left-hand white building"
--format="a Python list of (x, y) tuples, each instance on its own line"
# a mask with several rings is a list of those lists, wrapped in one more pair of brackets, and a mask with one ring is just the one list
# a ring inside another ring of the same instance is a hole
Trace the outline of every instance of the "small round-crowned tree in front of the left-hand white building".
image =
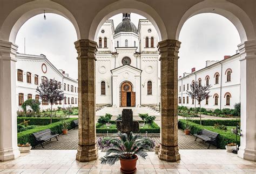
[(54, 79), (43, 81), (36, 89), (39, 97), (47, 103), (51, 104), (51, 123), (52, 123), (52, 105), (63, 100), (64, 93), (61, 90), (61, 84), (58, 84)]

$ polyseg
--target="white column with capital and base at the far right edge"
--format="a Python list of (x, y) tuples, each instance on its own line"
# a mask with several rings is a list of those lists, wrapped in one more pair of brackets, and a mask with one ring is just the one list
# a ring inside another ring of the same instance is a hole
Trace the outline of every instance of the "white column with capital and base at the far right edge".
[(241, 55), (241, 146), (238, 156), (256, 161), (256, 40), (238, 46)]

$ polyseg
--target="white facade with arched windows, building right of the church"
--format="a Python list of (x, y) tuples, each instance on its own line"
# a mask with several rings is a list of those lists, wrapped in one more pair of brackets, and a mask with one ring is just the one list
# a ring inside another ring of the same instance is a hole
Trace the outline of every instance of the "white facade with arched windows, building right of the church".
[[(225, 56), (226, 57), (226, 56)], [(234, 108), (235, 103), (240, 103), (240, 55), (235, 54), (231, 57), (226, 57), (222, 61), (206, 61), (206, 67), (192, 73), (184, 73), (184, 76), (178, 80), (178, 105), (187, 107), (199, 107), (198, 102), (188, 97), (187, 90), (190, 91), (190, 85), (193, 81), (205, 85), (208, 78), (210, 89), (210, 98), (208, 104), (206, 100), (201, 102), (201, 107), (207, 109), (223, 109)], [(193, 68), (192, 68), (193, 71)], [(231, 73), (230, 81), (228, 81), (228, 73)], [(219, 75), (218, 83), (216, 76)], [(218, 101), (215, 102), (217, 96)], [(227, 97), (230, 96), (228, 101)], [(187, 101), (188, 97), (188, 101)]]

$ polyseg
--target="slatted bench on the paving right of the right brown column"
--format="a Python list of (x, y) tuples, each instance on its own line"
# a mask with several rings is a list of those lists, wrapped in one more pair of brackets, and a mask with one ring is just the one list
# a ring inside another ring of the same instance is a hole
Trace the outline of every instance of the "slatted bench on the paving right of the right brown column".
[(208, 149), (209, 149), (211, 144), (214, 144), (216, 147), (218, 146), (218, 144), (217, 144), (218, 135), (219, 135), (218, 133), (208, 131), (207, 129), (203, 129), (198, 134), (194, 134), (194, 136), (196, 136), (196, 140), (194, 140), (194, 141), (197, 141), (197, 138), (199, 138), (205, 142), (208, 142), (209, 143)]

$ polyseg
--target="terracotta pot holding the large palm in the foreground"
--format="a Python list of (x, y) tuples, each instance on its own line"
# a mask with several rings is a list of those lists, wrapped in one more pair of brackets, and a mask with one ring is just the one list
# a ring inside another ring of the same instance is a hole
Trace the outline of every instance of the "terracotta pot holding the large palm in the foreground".
[(124, 173), (134, 173), (136, 172), (136, 163), (138, 160), (138, 156), (134, 155), (134, 159), (122, 159), (120, 158), (121, 168), (120, 170)]

